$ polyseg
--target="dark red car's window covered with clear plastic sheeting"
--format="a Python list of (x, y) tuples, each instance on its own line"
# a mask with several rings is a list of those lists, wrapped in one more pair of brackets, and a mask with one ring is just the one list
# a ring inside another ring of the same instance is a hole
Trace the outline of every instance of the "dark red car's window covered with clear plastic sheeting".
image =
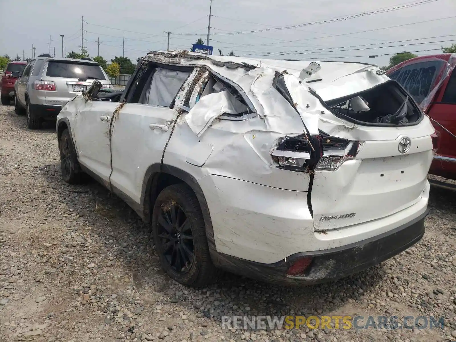
[(399, 82), (420, 103), (432, 90), (430, 87), (444, 64), (444, 61), (409, 64), (396, 70), (389, 78)]

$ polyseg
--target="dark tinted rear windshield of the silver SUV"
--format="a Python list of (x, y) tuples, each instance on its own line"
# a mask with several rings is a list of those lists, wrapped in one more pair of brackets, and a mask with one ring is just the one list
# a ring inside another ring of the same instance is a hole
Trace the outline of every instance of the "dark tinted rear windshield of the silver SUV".
[(50, 61), (47, 63), (46, 76), (63, 78), (96, 78), (105, 80), (104, 73), (96, 64)]

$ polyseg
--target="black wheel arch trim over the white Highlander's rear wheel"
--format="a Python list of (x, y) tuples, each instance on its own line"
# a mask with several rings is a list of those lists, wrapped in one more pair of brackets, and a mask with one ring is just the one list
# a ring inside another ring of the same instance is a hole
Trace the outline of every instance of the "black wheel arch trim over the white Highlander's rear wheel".
[(187, 184), (197, 197), (206, 227), (207, 244), (210, 250), (215, 251), (214, 232), (206, 197), (204, 196), (198, 181), (187, 171), (183, 171), (171, 165), (161, 165), (160, 163), (152, 164), (148, 167), (141, 189), (141, 209), (143, 218), (146, 222), (151, 221), (151, 208), (153, 208), (158, 194), (165, 187), (177, 183)]

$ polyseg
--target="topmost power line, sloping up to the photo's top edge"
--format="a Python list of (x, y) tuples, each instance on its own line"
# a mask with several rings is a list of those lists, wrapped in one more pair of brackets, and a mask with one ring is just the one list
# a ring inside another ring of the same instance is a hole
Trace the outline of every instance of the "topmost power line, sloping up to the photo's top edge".
[(405, 8), (411, 8), (411, 7), (415, 7), (415, 6), (425, 5), (425, 4), (428, 4), (430, 2), (435, 2), (435, 1), (438, 1), (438, 0), (421, 0), (421, 1), (417, 1), (417, 2), (411, 3), (411, 4), (409, 3), (408, 5), (399, 5), (399, 6), (396, 6), (396, 7), (387, 8), (387, 9), (383, 9), (383, 10), (382, 9), (372, 10), (372, 11), (368, 11), (368, 12), (362, 12), (362, 13), (356, 13), (356, 14), (352, 14), (352, 15), (348, 15), (348, 16), (338, 17), (338, 18), (334, 18), (334, 19), (326, 19), (326, 20), (321, 20), (321, 21), (302, 23), (302, 24), (298, 24), (298, 25), (281, 26), (281, 27), (272, 26), (272, 27), (269, 27), (269, 28), (259, 29), (259, 30), (234, 31), (234, 32), (227, 32), (227, 33), (218, 33), (218, 35), (225, 36), (225, 35), (236, 35), (236, 34), (243, 34), (243, 33), (264, 32), (264, 31), (280, 31), (280, 30), (288, 30), (288, 29), (297, 28), (297, 27), (303, 27), (303, 26), (329, 24), (329, 23), (332, 23), (332, 22), (345, 21), (345, 20), (355, 19), (355, 18), (359, 18), (359, 17), (363, 17), (363, 16), (371, 16), (371, 15), (380, 14), (380, 13), (387, 13), (387, 12), (391, 12), (391, 11), (395, 11), (395, 10), (403, 10)]

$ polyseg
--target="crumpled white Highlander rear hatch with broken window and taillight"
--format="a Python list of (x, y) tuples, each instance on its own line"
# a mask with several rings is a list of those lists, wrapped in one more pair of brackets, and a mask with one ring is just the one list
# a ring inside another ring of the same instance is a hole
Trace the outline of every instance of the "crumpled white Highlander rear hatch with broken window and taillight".
[(312, 174), (308, 204), (316, 230), (386, 218), (427, 197), (429, 119), (377, 67), (351, 67), (335, 78), (284, 72), (274, 79), (306, 126), (280, 141), (277, 149), (286, 153), (274, 153), (281, 167)]

